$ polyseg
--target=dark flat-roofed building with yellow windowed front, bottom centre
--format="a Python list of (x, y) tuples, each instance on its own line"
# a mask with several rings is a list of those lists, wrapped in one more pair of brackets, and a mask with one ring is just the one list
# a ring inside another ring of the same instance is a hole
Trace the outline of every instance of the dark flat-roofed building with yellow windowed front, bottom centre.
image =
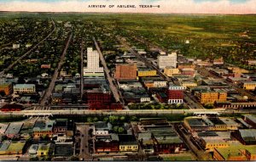
[(119, 135), (120, 152), (137, 152), (138, 142), (133, 135)]

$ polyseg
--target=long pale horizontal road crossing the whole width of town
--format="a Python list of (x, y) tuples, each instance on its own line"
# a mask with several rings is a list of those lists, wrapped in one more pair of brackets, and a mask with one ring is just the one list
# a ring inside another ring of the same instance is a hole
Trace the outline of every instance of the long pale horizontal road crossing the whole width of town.
[(184, 115), (184, 114), (255, 114), (256, 109), (144, 109), (144, 110), (88, 110), (88, 109), (41, 109), (0, 112), (0, 115)]

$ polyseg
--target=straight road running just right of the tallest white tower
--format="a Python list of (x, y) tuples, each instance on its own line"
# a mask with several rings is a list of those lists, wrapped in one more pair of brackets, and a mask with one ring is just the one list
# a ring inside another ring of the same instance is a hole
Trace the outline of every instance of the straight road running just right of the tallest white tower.
[(98, 51), (98, 53), (99, 53), (99, 55), (100, 55), (100, 59), (101, 59), (102, 65), (103, 65), (103, 67), (104, 67), (105, 74), (107, 75), (109, 87), (110, 87), (111, 91), (113, 92), (113, 97), (115, 98), (115, 101), (116, 101), (116, 102), (121, 102), (121, 103), (124, 104), (124, 101), (122, 101), (122, 100), (120, 99), (118, 88), (117, 88), (115, 85), (113, 85), (114, 79), (113, 79), (113, 77), (109, 74), (109, 73), (110, 73), (110, 70), (108, 70), (108, 66), (107, 66), (107, 64), (106, 64), (106, 61), (105, 61), (103, 55), (102, 55), (102, 51), (101, 51), (101, 49), (100, 49), (98, 43), (96, 42), (95, 37), (93, 37), (93, 41), (94, 41), (95, 46), (96, 46), (96, 49), (97, 49), (97, 51)]

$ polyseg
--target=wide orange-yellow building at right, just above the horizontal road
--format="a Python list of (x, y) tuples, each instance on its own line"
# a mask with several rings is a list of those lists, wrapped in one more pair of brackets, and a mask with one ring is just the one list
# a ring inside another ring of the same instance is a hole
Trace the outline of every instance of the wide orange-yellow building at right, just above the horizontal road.
[(227, 92), (195, 92), (195, 96), (202, 104), (227, 101)]

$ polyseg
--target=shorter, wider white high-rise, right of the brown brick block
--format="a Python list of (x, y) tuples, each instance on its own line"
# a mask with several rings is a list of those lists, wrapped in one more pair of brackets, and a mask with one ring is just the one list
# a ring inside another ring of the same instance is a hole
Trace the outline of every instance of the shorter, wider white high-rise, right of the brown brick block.
[(165, 69), (166, 66), (177, 66), (177, 53), (171, 53), (167, 55), (159, 55), (157, 58), (157, 65), (160, 69)]

